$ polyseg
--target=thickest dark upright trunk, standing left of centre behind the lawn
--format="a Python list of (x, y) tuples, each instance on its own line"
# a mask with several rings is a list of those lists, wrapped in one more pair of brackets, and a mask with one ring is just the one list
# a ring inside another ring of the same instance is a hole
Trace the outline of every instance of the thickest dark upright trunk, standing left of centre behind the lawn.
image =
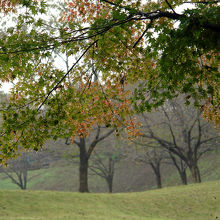
[(80, 138), (79, 192), (89, 192), (88, 188), (88, 157), (85, 139)]

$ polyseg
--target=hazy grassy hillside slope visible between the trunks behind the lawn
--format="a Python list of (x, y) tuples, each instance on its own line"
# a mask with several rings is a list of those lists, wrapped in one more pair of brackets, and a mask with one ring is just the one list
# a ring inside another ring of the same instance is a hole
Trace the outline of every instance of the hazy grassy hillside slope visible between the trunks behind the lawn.
[[(220, 180), (220, 151), (210, 152), (201, 158), (199, 168), (202, 181)], [(162, 166), (163, 186), (181, 184), (179, 175), (174, 167), (166, 164)], [(78, 164), (63, 162), (47, 169), (28, 172), (28, 189), (30, 190), (58, 190), (78, 191)], [(189, 183), (192, 183), (188, 172)], [(113, 192), (145, 191), (155, 188), (155, 176), (150, 167), (140, 166), (122, 161), (115, 171)], [(0, 190), (18, 189), (18, 186), (0, 173)], [(91, 192), (107, 192), (104, 179), (89, 175), (89, 189)]]

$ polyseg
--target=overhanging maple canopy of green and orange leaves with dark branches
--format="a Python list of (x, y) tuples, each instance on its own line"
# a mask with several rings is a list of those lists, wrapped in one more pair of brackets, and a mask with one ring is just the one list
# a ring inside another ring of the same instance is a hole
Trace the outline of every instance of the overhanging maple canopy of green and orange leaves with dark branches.
[(1, 17), (1, 162), (95, 124), (136, 136), (134, 112), (180, 93), (219, 123), (219, 1), (11, 0)]

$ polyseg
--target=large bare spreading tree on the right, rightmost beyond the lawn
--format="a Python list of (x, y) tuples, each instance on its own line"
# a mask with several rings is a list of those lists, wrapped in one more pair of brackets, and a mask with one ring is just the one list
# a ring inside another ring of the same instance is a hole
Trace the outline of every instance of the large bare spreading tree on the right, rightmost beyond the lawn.
[(143, 138), (155, 140), (170, 152), (174, 164), (175, 157), (179, 157), (181, 175), (185, 175), (187, 165), (193, 181), (201, 182), (199, 159), (206, 152), (220, 147), (217, 131), (201, 118), (201, 111), (192, 105), (183, 105), (183, 99), (179, 97), (166, 102), (154, 114), (143, 114), (143, 118)]

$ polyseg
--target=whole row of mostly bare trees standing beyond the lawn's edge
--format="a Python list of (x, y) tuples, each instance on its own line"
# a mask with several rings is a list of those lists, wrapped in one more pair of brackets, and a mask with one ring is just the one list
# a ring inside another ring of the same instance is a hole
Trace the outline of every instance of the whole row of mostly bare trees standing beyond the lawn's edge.
[[(198, 109), (193, 105), (185, 106), (182, 99), (178, 97), (167, 101), (157, 111), (138, 115), (142, 134), (130, 140), (131, 146), (126, 147), (122, 141), (127, 140), (126, 133), (121, 132), (116, 137), (114, 130), (97, 127), (87, 138), (79, 138), (73, 142), (70, 138), (62, 140), (67, 147), (73, 145), (78, 150), (68, 150), (64, 154), (62, 149), (52, 146), (51, 151), (56, 152), (59, 159), (64, 158), (78, 164), (80, 192), (89, 192), (89, 172), (103, 178), (108, 191), (113, 192), (117, 166), (126, 160), (150, 166), (158, 188), (162, 187), (161, 167), (166, 164), (172, 164), (176, 168), (182, 184), (188, 183), (187, 169), (193, 182), (199, 183), (201, 175), (198, 162), (203, 155), (219, 148), (218, 133), (212, 124), (202, 118)], [(116, 143), (116, 138), (119, 143)], [(107, 146), (104, 147), (105, 145)], [(87, 157), (91, 151), (94, 151), (93, 156)], [(85, 158), (82, 159), (82, 155)], [(50, 162), (55, 159), (48, 158), (47, 152), (28, 156), (23, 153), (17, 161), (11, 160), (8, 168), (2, 171), (21, 189), (26, 189), (28, 171), (44, 168), (46, 165), (49, 167)]]

